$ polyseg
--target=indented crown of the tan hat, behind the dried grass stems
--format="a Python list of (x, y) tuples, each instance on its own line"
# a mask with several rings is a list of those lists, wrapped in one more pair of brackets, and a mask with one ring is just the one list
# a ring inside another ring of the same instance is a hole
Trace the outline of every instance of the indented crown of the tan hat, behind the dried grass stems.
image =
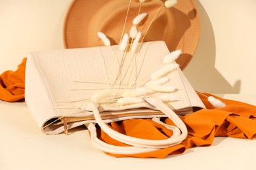
[[(132, 1), (124, 33), (129, 33), (133, 26), (133, 19), (139, 13), (147, 13), (146, 18), (137, 25), (138, 31), (141, 31), (142, 35), (144, 35), (156, 12), (162, 8), (150, 25), (143, 41), (165, 41), (165, 43), (171, 43), (172, 37), (175, 37), (175, 19), (172, 10), (162, 6), (163, 2), (159, 0), (145, 1), (141, 7), (139, 1)], [(129, 1), (125, 0), (114, 0), (102, 5), (95, 12), (89, 23), (87, 44), (89, 46), (103, 45), (100, 39), (96, 38), (98, 31), (105, 33), (110, 39), (111, 44), (119, 44), (128, 7)]]

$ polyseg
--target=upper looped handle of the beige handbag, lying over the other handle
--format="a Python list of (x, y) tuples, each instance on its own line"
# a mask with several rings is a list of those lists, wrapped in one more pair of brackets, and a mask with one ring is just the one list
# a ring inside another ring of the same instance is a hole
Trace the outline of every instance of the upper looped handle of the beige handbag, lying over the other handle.
[[(173, 120), (174, 124), (176, 124), (177, 127), (179, 127), (179, 129), (181, 130), (181, 134), (175, 137), (170, 137), (169, 139), (163, 139), (163, 140), (148, 140), (148, 139), (139, 139), (137, 137), (129, 137), (127, 135), (118, 133), (114, 129), (108, 127), (100, 117), (100, 113), (98, 112), (98, 108), (96, 107), (95, 103), (90, 103), (89, 105), (87, 105), (87, 107), (91, 107), (91, 110), (93, 111), (93, 114), (95, 116), (95, 120), (98, 126), (100, 126), (100, 128), (105, 133), (107, 133), (110, 137), (122, 143), (129, 144), (131, 146), (144, 147), (144, 148), (165, 148), (165, 147), (174, 146), (176, 144), (181, 143), (188, 135), (188, 131), (186, 129), (186, 126), (182, 122), (182, 120), (179, 118), (179, 116), (177, 116), (177, 114), (175, 114), (173, 110), (167, 107), (167, 105), (165, 105), (163, 101), (161, 101), (160, 99), (156, 99), (154, 97), (143, 97), (143, 99), (150, 105), (156, 107), (156, 109), (163, 112), (171, 120)], [(175, 133), (175, 134), (179, 134), (179, 133)]]

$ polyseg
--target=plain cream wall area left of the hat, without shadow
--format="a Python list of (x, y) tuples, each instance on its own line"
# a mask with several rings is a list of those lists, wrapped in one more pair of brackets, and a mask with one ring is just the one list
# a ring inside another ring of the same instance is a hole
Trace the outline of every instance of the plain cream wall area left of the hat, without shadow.
[(0, 72), (35, 50), (63, 48), (62, 23), (71, 0), (0, 0)]

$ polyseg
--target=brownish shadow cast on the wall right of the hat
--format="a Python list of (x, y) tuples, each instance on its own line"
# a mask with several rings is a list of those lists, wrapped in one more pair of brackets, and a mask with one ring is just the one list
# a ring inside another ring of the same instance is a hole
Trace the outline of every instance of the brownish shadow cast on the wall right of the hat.
[(196, 54), (184, 74), (195, 90), (208, 93), (240, 93), (241, 80), (234, 86), (215, 68), (216, 46), (213, 26), (202, 4), (196, 0), (201, 20), (201, 35)]

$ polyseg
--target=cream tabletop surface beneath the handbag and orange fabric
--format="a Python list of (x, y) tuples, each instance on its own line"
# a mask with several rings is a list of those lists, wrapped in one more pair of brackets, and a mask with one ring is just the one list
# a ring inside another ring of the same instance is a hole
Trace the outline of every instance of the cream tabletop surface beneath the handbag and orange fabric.
[[(256, 105), (256, 95), (219, 95)], [(114, 158), (92, 146), (85, 128), (47, 136), (26, 103), (0, 101), (0, 169), (256, 169), (256, 139), (215, 137), (165, 159)]]

